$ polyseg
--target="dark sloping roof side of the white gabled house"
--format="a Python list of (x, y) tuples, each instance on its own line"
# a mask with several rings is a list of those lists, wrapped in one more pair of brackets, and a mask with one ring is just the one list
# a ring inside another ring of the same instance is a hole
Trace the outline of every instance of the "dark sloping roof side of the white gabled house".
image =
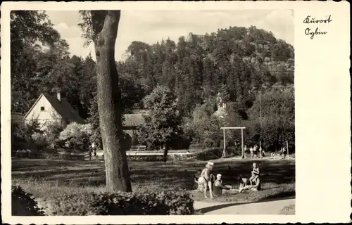
[(72, 107), (70, 103), (64, 98), (61, 98), (61, 101), (58, 101), (58, 98), (51, 96), (50, 94), (43, 94), (49, 103), (53, 106), (56, 112), (63, 117), (63, 119), (68, 120), (69, 122), (77, 122), (79, 124), (85, 124), (86, 121), (78, 115), (77, 111)]

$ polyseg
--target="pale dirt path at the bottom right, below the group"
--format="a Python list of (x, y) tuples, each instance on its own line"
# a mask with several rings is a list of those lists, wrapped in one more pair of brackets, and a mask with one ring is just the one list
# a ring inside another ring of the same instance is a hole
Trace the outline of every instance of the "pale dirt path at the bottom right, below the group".
[(279, 214), (280, 210), (294, 205), (295, 199), (273, 200), (263, 203), (202, 203), (195, 202), (194, 208), (203, 214)]

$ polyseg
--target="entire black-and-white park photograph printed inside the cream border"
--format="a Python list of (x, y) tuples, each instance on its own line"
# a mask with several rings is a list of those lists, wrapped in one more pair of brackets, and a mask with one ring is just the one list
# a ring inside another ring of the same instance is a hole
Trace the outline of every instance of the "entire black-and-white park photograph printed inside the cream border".
[(296, 214), (294, 18), (11, 11), (12, 216)]

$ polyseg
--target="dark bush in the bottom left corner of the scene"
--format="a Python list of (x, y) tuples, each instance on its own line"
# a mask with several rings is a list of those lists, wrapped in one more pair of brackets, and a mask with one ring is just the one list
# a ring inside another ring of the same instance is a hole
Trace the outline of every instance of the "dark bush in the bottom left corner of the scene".
[(13, 216), (44, 216), (42, 208), (30, 193), (26, 193), (20, 186), (11, 187)]

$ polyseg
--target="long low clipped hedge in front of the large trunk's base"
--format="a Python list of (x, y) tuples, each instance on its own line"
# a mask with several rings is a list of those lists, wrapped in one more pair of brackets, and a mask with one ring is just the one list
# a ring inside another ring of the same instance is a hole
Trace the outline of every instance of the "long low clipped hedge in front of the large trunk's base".
[(194, 214), (189, 193), (80, 193), (51, 202), (53, 215), (187, 215)]

